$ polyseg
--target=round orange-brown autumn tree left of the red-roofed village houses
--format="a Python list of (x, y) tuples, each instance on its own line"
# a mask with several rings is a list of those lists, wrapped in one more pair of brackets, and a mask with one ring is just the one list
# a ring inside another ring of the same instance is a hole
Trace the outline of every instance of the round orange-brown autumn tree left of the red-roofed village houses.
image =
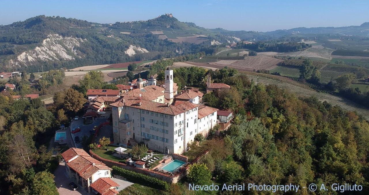
[(64, 108), (69, 111), (78, 112), (86, 102), (87, 100), (83, 97), (83, 94), (75, 89), (69, 88), (65, 92)]

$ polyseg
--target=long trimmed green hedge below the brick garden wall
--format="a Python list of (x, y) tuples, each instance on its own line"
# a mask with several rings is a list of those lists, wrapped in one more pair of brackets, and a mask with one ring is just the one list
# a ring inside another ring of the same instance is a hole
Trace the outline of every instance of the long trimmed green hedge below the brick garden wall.
[(134, 183), (138, 183), (141, 185), (146, 185), (148, 187), (152, 187), (155, 189), (161, 189), (161, 190), (168, 190), (169, 185), (167, 182), (159, 180), (155, 177), (150, 177), (148, 175), (144, 175), (141, 173), (136, 173), (134, 171), (130, 171), (127, 169), (122, 169), (117, 166), (111, 167), (113, 169), (113, 174), (120, 175), (124, 178), (126, 178), (129, 181), (132, 181)]

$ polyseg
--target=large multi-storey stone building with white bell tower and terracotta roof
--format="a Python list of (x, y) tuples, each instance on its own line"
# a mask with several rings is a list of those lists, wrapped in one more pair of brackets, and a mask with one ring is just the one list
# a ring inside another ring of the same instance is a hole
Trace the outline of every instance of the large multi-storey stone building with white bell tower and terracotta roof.
[[(207, 136), (217, 124), (218, 109), (197, 104), (199, 100), (192, 92), (185, 92), (191, 93), (188, 99), (181, 96), (184, 93), (176, 95), (178, 87), (169, 68), (165, 70), (164, 88), (144, 86), (143, 82), (137, 79), (137, 89), (121, 94), (121, 99), (110, 104), (114, 143), (143, 142), (152, 150), (182, 154), (196, 134)], [(181, 98), (173, 103), (176, 96)]]

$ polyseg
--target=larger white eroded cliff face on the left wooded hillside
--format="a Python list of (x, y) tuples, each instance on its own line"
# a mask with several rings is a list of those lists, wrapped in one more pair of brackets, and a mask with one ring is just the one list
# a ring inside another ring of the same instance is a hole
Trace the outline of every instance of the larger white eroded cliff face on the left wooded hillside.
[(21, 53), (15, 60), (10, 60), (9, 66), (29, 66), (38, 61), (48, 60), (75, 60), (77, 57), (83, 57), (76, 47), (85, 41), (87, 39), (49, 35), (42, 41), (41, 46)]

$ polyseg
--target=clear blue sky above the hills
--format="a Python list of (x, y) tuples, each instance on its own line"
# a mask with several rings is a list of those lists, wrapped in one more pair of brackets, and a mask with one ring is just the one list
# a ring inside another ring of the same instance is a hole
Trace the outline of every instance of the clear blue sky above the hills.
[(0, 0), (0, 7), (2, 25), (36, 15), (114, 23), (147, 20), (164, 13), (205, 28), (264, 32), (369, 22), (368, 0)]

